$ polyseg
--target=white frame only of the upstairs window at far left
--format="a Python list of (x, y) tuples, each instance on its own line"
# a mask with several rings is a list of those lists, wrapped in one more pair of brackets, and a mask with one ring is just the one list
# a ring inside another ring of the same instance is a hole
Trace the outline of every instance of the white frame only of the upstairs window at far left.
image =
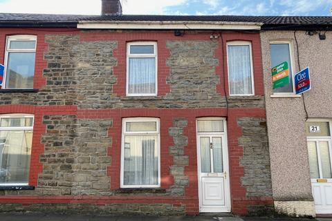
[[(10, 49), (10, 42), (12, 41), (36, 41), (35, 48), (33, 49)], [(6, 89), (6, 77), (8, 68), (8, 55), (10, 52), (36, 52), (37, 50), (37, 36), (35, 35), (10, 35), (6, 38), (6, 50), (5, 50), (5, 60), (4, 60), (4, 73), (2, 81), (2, 89)], [(36, 61), (35, 61), (36, 66)], [(34, 73), (35, 74), (35, 73)], [(16, 88), (10, 88), (16, 89)], [(19, 89), (33, 89), (33, 88), (19, 88)]]

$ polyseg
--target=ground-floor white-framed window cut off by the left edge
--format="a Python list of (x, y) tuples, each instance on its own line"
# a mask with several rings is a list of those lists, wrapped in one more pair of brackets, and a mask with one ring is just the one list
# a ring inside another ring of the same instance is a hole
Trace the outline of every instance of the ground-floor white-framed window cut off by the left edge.
[(0, 185), (28, 185), (33, 115), (0, 115)]

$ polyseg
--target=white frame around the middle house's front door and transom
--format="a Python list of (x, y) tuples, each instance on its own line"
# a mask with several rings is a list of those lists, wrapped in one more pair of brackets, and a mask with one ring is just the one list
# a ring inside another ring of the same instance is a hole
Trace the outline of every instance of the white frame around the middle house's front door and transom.
[[(204, 120), (223, 120), (223, 131), (219, 133), (198, 133), (197, 122), (199, 119)], [(225, 206), (209, 206), (209, 208), (203, 208), (202, 196), (203, 187), (201, 182), (201, 146), (200, 137), (222, 137), (222, 153), (223, 153), (223, 174), (225, 174), (224, 182), (224, 197)], [(199, 182), (199, 211), (203, 213), (229, 213), (231, 211), (230, 204), (230, 173), (229, 173), (229, 162), (228, 162), (228, 140), (227, 140), (227, 122), (225, 117), (198, 117), (196, 118), (196, 151), (197, 151), (197, 177)]]

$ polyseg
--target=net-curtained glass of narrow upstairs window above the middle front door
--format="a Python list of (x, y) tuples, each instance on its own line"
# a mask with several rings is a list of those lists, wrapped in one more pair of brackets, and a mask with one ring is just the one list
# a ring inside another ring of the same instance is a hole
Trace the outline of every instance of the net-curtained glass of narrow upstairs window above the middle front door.
[(228, 46), (230, 95), (252, 94), (249, 46)]

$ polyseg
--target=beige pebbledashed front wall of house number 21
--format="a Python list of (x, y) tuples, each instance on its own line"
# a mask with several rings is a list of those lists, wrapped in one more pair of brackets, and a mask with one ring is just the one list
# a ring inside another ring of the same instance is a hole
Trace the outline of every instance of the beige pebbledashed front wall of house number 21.
[(270, 148), (273, 199), (275, 209), (287, 215), (315, 215), (308, 166), (305, 122), (309, 118), (332, 118), (331, 57), (332, 33), (326, 40), (304, 31), (295, 32), (300, 67), (309, 66), (311, 90), (303, 97), (271, 97), (273, 95), (270, 41), (291, 41), (296, 72), (299, 71), (294, 31), (261, 32), (261, 49), (264, 68), (266, 115)]

